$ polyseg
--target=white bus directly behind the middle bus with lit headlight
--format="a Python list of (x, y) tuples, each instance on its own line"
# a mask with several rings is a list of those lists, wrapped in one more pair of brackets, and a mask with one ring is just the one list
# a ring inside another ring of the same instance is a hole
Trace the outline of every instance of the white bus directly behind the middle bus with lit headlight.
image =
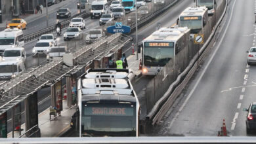
[[(179, 27), (188, 27), (192, 34), (202, 31), (208, 20), (206, 7), (188, 7), (179, 16)], [(193, 37), (193, 35), (192, 35)]]

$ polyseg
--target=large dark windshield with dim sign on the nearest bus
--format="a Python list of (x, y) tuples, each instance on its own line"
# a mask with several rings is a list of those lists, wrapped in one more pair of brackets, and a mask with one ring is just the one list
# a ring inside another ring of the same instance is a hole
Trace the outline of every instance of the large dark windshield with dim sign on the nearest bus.
[(82, 105), (81, 136), (136, 136), (136, 105), (86, 103)]

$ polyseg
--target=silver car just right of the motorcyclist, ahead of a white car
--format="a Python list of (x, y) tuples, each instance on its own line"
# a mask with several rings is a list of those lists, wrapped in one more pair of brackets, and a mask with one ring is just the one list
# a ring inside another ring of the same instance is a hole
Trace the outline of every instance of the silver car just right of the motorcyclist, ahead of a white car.
[(79, 27), (68, 27), (67, 31), (64, 33), (63, 38), (64, 41), (69, 39), (80, 39), (82, 35), (82, 31)]

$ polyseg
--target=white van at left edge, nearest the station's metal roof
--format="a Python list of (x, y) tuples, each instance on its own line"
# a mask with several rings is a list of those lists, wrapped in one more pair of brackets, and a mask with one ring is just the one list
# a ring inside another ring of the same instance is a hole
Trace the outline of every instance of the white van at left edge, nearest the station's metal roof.
[(21, 60), (0, 62), (0, 81), (10, 80), (25, 71)]

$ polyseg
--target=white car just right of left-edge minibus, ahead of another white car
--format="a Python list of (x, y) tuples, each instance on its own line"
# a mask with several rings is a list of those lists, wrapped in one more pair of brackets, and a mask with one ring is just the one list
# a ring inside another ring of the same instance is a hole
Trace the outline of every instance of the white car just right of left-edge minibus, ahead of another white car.
[(38, 41), (32, 50), (32, 56), (35, 56), (36, 54), (47, 54), (47, 51), (49, 48), (51, 48), (53, 44), (51, 42), (41, 42)]

